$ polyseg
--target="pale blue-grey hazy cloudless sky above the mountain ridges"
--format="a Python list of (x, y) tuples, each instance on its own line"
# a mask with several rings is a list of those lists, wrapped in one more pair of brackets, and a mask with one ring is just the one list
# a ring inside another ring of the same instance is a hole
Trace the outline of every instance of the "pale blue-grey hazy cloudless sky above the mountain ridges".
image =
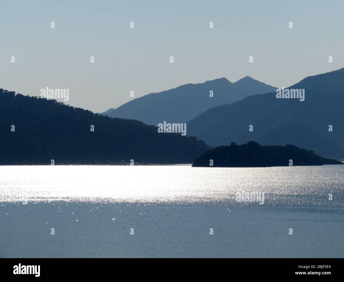
[(246, 75), (287, 87), (344, 67), (344, 1), (0, 0), (0, 11), (0, 88), (68, 88), (67, 104), (93, 112), (131, 90)]

